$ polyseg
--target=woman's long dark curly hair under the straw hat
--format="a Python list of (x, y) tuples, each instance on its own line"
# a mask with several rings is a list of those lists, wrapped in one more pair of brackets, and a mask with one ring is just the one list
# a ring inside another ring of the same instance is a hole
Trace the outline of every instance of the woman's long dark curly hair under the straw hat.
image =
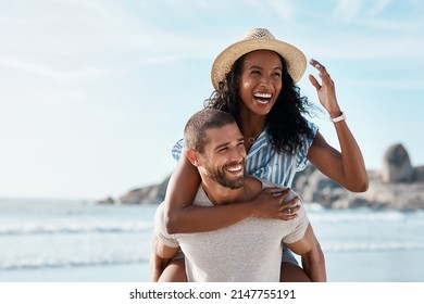
[[(224, 81), (205, 100), (207, 107), (225, 111), (237, 121), (240, 126), (239, 106), (241, 97), (239, 93), (239, 78), (241, 75), (242, 62), (246, 55), (239, 58), (233, 65), (232, 71), (226, 75)], [(266, 116), (267, 130), (271, 142), (279, 152), (296, 153), (301, 144), (301, 135), (313, 138), (313, 134), (302, 114), (309, 114), (310, 103), (307, 97), (300, 96), (300, 88), (287, 72), (286, 61), (278, 54), (283, 63), (283, 89)], [(242, 130), (241, 130), (242, 131)]]

